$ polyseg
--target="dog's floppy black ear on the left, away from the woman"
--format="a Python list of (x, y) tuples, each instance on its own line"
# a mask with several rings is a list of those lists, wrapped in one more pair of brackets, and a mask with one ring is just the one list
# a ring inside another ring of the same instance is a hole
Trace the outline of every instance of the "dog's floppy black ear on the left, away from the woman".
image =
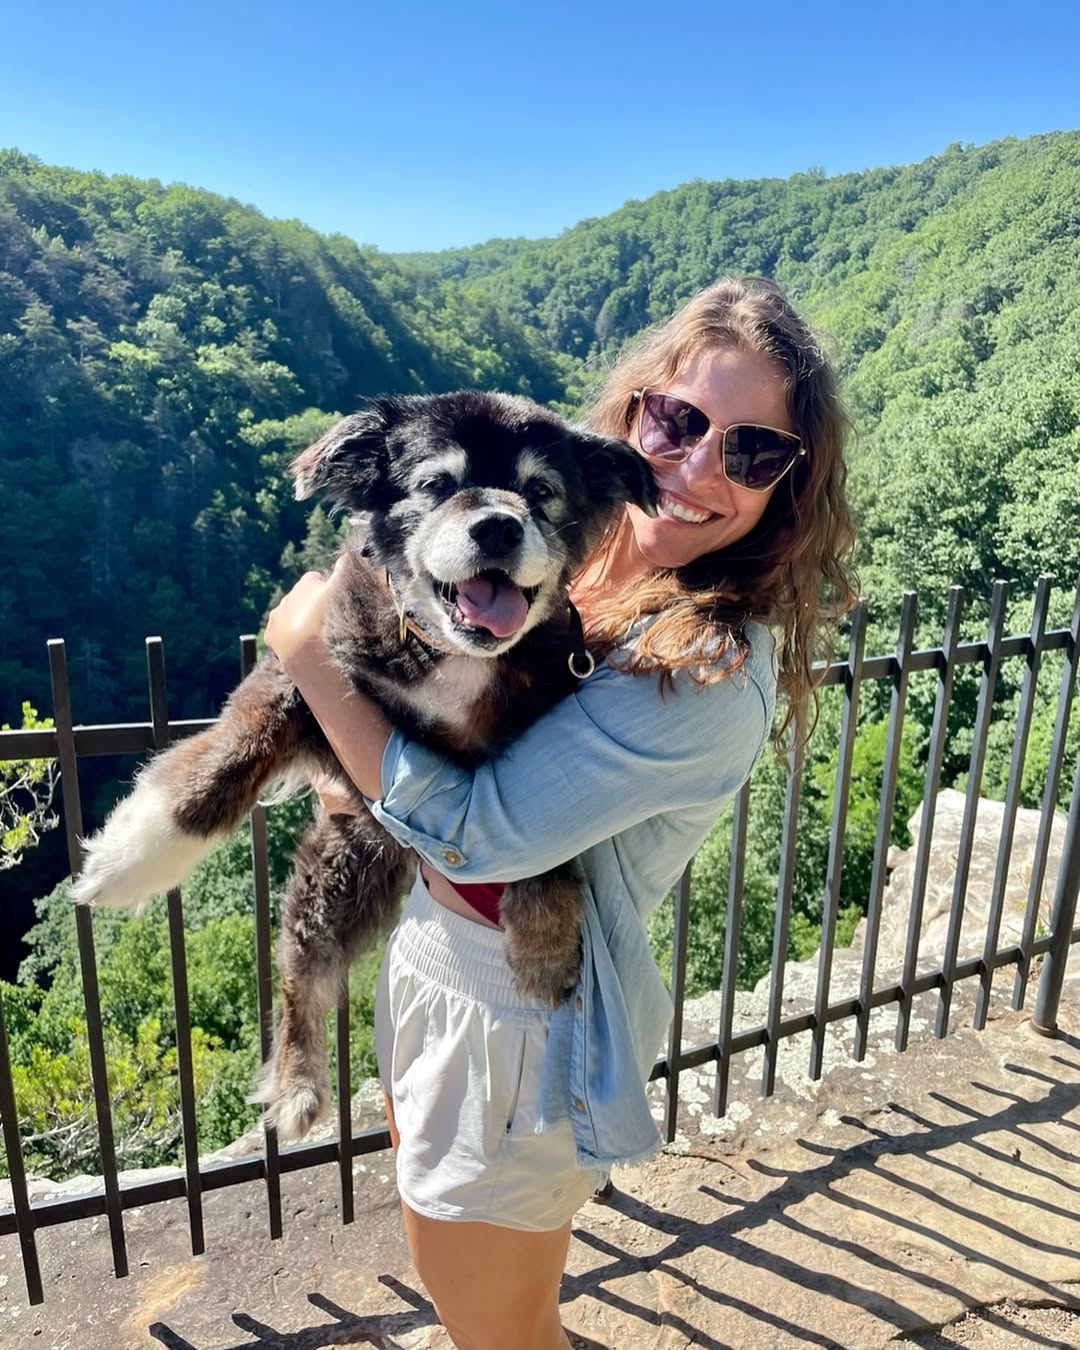
[(396, 493), (386, 436), (400, 420), (401, 410), (392, 398), (373, 398), (360, 412), (343, 417), (289, 466), (296, 500), (325, 493), (347, 510), (387, 506)]

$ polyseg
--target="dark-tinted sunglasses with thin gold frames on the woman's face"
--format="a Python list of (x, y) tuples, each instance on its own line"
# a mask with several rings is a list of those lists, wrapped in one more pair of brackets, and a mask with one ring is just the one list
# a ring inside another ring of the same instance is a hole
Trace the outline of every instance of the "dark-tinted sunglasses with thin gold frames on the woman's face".
[[(636, 389), (637, 440), (647, 459), (678, 464), (713, 428), (705, 413), (674, 394)], [(724, 477), (736, 487), (767, 493), (806, 455), (799, 437), (778, 427), (736, 423), (724, 428)]]

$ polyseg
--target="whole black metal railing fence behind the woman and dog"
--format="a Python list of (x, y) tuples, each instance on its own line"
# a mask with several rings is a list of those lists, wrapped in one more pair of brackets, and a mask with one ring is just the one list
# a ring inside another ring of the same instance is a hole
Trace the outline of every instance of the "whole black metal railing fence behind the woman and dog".
[[(672, 959), (672, 995), (675, 1018), (668, 1040), (667, 1054), (652, 1071), (653, 1079), (667, 1079), (666, 1091), (666, 1131), (667, 1138), (675, 1137), (675, 1119), (679, 1103), (679, 1075), (682, 1071), (716, 1061), (717, 1079), (713, 1110), (717, 1115), (726, 1112), (732, 1060), (745, 1050), (764, 1046), (764, 1075), (761, 1091), (768, 1095), (774, 1089), (776, 1073), (776, 1053), (780, 1042), (803, 1031), (810, 1033), (810, 1075), (819, 1077), (822, 1072), (826, 1027), (837, 1021), (855, 1019), (856, 1060), (861, 1060), (867, 1049), (869, 1017), (873, 1008), (898, 1004), (896, 1048), (907, 1045), (911, 1003), (915, 995), (938, 991), (938, 1014), (934, 1031), (942, 1037), (948, 1031), (949, 1008), (957, 981), (977, 979), (975, 1025), (983, 1027), (995, 972), (1002, 967), (1014, 967), (1013, 1007), (1019, 1008), (1027, 994), (1031, 961), (1044, 957), (1034, 1008), (1035, 1025), (1053, 1034), (1057, 1023), (1057, 1008), (1065, 973), (1065, 963), (1072, 944), (1080, 941), (1080, 929), (1075, 927), (1077, 890), (1080, 888), (1080, 764), (1072, 786), (1064, 852), (1060, 863), (1057, 886), (1052, 902), (1046, 932), (1037, 936), (1040, 902), (1046, 876), (1046, 860), (1050, 842), (1054, 802), (1058, 796), (1065, 738), (1069, 726), (1073, 691), (1077, 672), (1077, 639), (1080, 637), (1080, 586), (1072, 609), (1068, 628), (1048, 629), (1046, 616), (1050, 602), (1050, 583), (1044, 578), (1035, 590), (1031, 626), (1027, 633), (1006, 636), (1006, 583), (994, 587), (990, 609), (988, 632), (981, 641), (960, 641), (960, 618), (963, 593), (959, 587), (949, 595), (948, 614), (941, 647), (913, 649), (915, 633), (915, 597), (905, 595), (899, 636), (895, 652), (886, 656), (867, 657), (864, 655), (867, 632), (867, 609), (860, 605), (852, 616), (850, 641), (846, 660), (834, 662), (824, 674), (824, 684), (841, 686), (842, 717), (837, 756), (836, 791), (833, 794), (833, 817), (830, 826), (829, 856), (825, 876), (825, 906), (822, 918), (821, 954), (818, 961), (817, 991), (813, 1008), (783, 1017), (784, 963), (788, 949), (792, 880), (795, 872), (795, 837), (798, 828), (799, 798), (803, 760), (795, 756), (790, 765), (784, 802), (784, 819), (780, 840), (780, 867), (776, 891), (776, 915), (774, 925), (772, 971), (765, 1021), (760, 1026), (734, 1031), (734, 975), (737, 969), (740, 927), (742, 911), (742, 886), (747, 844), (747, 818), (752, 784), (744, 786), (734, 805), (733, 848), (729, 878), (728, 911), (724, 946), (724, 977), (721, 996), (721, 1017), (713, 1040), (690, 1049), (682, 1049), (683, 995), (686, 988), (686, 953), (688, 932), (690, 873), (683, 876), (675, 903), (675, 941)], [(1046, 780), (1041, 803), (1041, 824), (1034, 849), (1031, 878), (1023, 929), (1019, 942), (999, 946), (999, 932), (1004, 909), (1004, 887), (1008, 876), (1013, 834), (1021, 795), (1021, 778), (1027, 748), (1027, 737), (1035, 709), (1035, 686), (1040, 664), (1045, 652), (1064, 652), (1064, 663), (1057, 694), (1057, 710), (1046, 765)], [(1014, 745), (1010, 763), (1008, 783), (1004, 799), (1003, 828), (996, 860), (995, 880), (991, 895), (990, 918), (987, 923), (983, 954), (967, 960), (959, 959), (961, 922), (964, 918), (965, 892), (975, 841), (975, 821), (979, 802), (987, 738), (994, 706), (994, 688), (1003, 660), (1023, 657), (1025, 671), (1019, 691), (1019, 709), (1014, 729)], [(242, 667), (250, 670), (255, 659), (255, 640), (242, 639)], [(112, 726), (74, 726), (72, 720), (72, 699), (68, 680), (65, 645), (62, 641), (49, 644), (50, 674), (53, 682), (54, 726), (47, 730), (22, 730), (0, 733), (0, 761), (31, 757), (55, 757), (61, 765), (61, 788), (63, 825), (68, 836), (68, 852), (72, 872), (77, 873), (81, 864), (80, 836), (82, 815), (78, 794), (78, 761), (99, 755), (143, 755), (161, 749), (171, 738), (188, 736), (209, 725), (205, 721), (170, 722), (165, 693), (165, 662), (159, 639), (147, 640), (147, 666), (150, 682), (150, 721)], [(944, 959), (936, 969), (918, 969), (918, 938), (922, 925), (923, 896), (930, 860), (934, 809), (941, 782), (941, 767), (946, 747), (946, 728), (953, 694), (953, 678), (959, 667), (979, 668), (979, 698), (972, 728), (972, 752), (968, 767), (965, 809), (957, 852), (956, 882), (952, 895), (948, 937)], [(887, 876), (887, 852), (894, 815), (898, 768), (900, 761), (900, 738), (905, 722), (909, 679), (919, 671), (937, 674), (933, 725), (930, 730), (929, 757), (926, 765), (925, 792), (922, 805), (922, 825), (915, 857), (915, 879), (911, 910), (907, 927), (907, 944), (903, 973), (899, 983), (876, 987), (875, 965), (878, 938), (882, 922), (882, 898)], [(848, 788), (852, 772), (852, 753), (859, 716), (860, 687), (867, 680), (887, 680), (890, 684), (890, 711), (886, 732), (886, 753), (882, 775), (880, 807), (873, 852), (873, 867), (869, 884), (867, 930), (863, 946), (860, 988), (856, 998), (829, 1002), (836, 925), (840, 903), (840, 879), (844, 853), (844, 836), (848, 810)], [(269, 1027), (271, 1010), (271, 963), (270, 963), (270, 884), (266, 849), (266, 819), (256, 809), (251, 817), (251, 857), (254, 869), (255, 903), (255, 953), (256, 953), (256, 1000), (259, 1025), (262, 1027), (262, 1054), (269, 1053)], [(691, 864), (693, 865), (693, 864)], [(351, 1118), (352, 1084), (350, 1081), (348, 1060), (348, 1003), (343, 996), (336, 1014), (338, 1048), (338, 1138), (320, 1143), (308, 1143), (281, 1152), (273, 1130), (265, 1133), (263, 1152), (228, 1162), (200, 1164), (196, 1143), (196, 1096), (193, 1085), (190, 1018), (188, 1010), (188, 980), (184, 941), (184, 911), (180, 891), (171, 891), (167, 898), (170, 956), (173, 969), (173, 996), (177, 1025), (178, 1052), (178, 1094), (184, 1141), (184, 1168), (174, 1176), (122, 1185), (113, 1145), (113, 1123), (108, 1083), (108, 1062), (103, 1038), (101, 1010), (97, 990), (97, 968), (94, 960), (93, 917), (89, 910), (77, 909), (78, 956), (82, 973), (86, 1027), (90, 1050), (90, 1072), (93, 1080), (97, 1130), (101, 1153), (101, 1187), (96, 1191), (66, 1199), (31, 1203), (23, 1154), (18, 1103), (15, 1100), (11, 1058), (4, 1030), (4, 1010), (0, 1000), (0, 1122), (3, 1123), (14, 1207), (0, 1210), (0, 1235), (18, 1233), (22, 1245), (23, 1268), (31, 1303), (43, 1299), (40, 1265), (35, 1234), (53, 1224), (69, 1223), (92, 1215), (107, 1215), (112, 1238), (113, 1266), (117, 1276), (127, 1274), (127, 1246), (124, 1239), (124, 1210), (134, 1206), (153, 1204), (161, 1200), (185, 1196), (190, 1226), (192, 1253), (204, 1250), (202, 1195), (220, 1187), (236, 1185), (243, 1181), (262, 1179), (266, 1183), (270, 1237), (281, 1237), (281, 1174), (300, 1168), (336, 1162), (340, 1173), (342, 1219), (354, 1218), (352, 1161), (364, 1153), (385, 1149), (390, 1143), (385, 1129), (354, 1133)]]

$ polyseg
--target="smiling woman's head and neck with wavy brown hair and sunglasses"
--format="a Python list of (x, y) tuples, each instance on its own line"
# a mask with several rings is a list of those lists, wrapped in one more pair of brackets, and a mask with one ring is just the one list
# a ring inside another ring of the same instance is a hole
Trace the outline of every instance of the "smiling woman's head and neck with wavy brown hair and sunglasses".
[[(652, 392), (675, 402), (655, 410)], [(590, 423), (629, 437), (660, 493), (659, 516), (629, 508), (585, 574), (608, 586), (593, 632), (618, 641), (653, 614), (629, 670), (663, 676), (709, 652), (726, 653), (730, 675), (741, 625), (765, 620), (779, 637), (778, 734), (801, 738), (810, 668), (855, 594), (848, 420), (817, 335), (774, 282), (717, 282), (629, 348)]]

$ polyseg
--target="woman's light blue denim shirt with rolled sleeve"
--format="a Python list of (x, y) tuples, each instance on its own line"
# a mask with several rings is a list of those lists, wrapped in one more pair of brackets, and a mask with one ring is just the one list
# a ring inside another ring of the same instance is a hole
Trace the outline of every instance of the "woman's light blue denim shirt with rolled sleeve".
[[(570, 1118), (583, 1168), (660, 1145), (645, 1083), (672, 1015), (644, 921), (760, 756), (776, 698), (774, 643), (747, 628), (740, 671), (699, 687), (601, 663), (497, 759), (462, 768), (394, 733), (371, 810), (462, 882), (510, 882), (578, 857), (583, 961), (548, 1033), (541, 1114)], [(693, 915), (691, 915), (693, 922)], [(543, 1126), (540, 1126), (543, 1129)]]

